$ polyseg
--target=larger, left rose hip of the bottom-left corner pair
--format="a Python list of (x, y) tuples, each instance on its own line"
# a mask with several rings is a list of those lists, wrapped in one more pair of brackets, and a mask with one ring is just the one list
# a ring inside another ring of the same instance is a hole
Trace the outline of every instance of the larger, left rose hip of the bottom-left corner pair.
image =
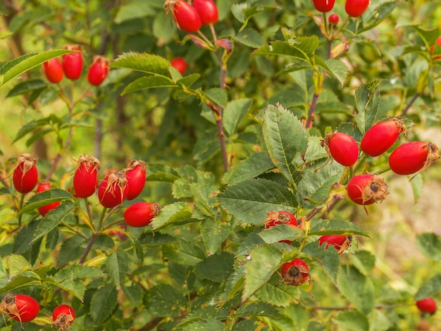
[(8, 294), (0, 303), (1, 313), (8, 313), (13, 320), (30, 322), (37, 317), (39, 313), (39, 304), (37, 300), (25, 294)]

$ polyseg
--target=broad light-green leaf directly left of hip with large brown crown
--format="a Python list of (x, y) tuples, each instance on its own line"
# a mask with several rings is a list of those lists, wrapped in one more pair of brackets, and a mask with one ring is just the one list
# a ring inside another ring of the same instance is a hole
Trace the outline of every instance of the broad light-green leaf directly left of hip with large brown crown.
[(340, 181), (343, 170), (344, 167), (337, 162), (330, 162), (322, 168), (320, 163), (306, 168), (302, 180), (297, 185), (299, 204), (306, 209), (325, 204), (328, 198), (332, 198), (329, 196), (330, 189)]

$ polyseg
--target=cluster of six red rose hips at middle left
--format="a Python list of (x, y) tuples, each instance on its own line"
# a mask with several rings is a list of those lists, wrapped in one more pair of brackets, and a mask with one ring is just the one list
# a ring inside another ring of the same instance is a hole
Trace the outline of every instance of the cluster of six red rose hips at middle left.
[[(144, 189), (147, 178), (147, 165), (142, 160), (130, 161), (123, 170), (110, 170), (99, 182), (98, 173), (100, 162), (94, 156), (82, 155), (77, 160), (77, 167), (73, 175), (74, 196), (88, 198), (97, 192), (99, 203), (105, 208), (114, 208), (125, 200), (133, 200)], [(13, 186), (22, 194), (35, 188), (38, 182), (37, 161), (31, 154), (18, 156), (13, 170)], [(50, 182), (42, 180), (37, 186), (36, 193), (51, 189)], [(37, 208), (41, 216), (46, 216), (55, 209), (59, 201)], [(127, 225), (143, 227), (159, 214), (161, 206), (156, 203), (140, 201), (130, 205), (124, 212)]]

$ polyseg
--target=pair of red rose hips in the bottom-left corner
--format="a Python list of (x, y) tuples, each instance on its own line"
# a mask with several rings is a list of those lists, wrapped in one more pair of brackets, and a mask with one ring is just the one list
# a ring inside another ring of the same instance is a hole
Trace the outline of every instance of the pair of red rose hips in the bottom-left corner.
[[(0, 313), (7, 313), (13, 320), (21, 323), (30, 322), (37, 317), (40, 307), (32, 296), (26, 294), (7, 294), (0, 302)], [(67, 304), (56, 306), (51, 316), (51, 323), (59, 330), (66, 330), (75, 320), (75, 311)]]

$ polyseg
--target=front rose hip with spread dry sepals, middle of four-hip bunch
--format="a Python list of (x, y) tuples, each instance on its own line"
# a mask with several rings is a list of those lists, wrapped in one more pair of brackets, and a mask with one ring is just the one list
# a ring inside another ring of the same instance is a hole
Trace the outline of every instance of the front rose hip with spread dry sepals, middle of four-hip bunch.
[(116, 207), (127, 198), (128, 191), (129, 186), (124, 171), (113, 171), (98, 185), (99, 203), (106, 208)]

